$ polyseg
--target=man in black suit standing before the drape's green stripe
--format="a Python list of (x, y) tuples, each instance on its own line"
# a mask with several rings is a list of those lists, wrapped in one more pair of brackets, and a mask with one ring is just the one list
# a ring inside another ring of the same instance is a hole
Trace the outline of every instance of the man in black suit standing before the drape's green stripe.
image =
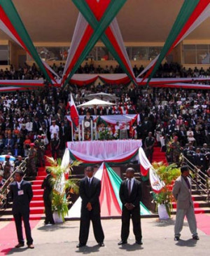
[(130, 232), (130, 217), (132, 217), (134, 236), (136, 243), (142, 245), (141, 242), (141, 182), (134, 178), (134, 168), (127, 168), (126, 177), (120, 184), (120, 200), (123, 203), (121, 241), (118, 245), (127, 243)]

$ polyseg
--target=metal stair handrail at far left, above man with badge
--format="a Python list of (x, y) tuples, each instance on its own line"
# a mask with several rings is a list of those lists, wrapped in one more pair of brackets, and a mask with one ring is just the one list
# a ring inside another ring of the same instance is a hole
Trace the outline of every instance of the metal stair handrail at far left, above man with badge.
[[(22, 170), (23, 173), (26, 175), (26, 170), (27, 170), (27, 159), (29, 159), (29, 156), (27, 156), (22, 163), (20, 163), (19, 166), (17, 166), (13, 173), (8, 177), (6, 182), (4, 182), (3, 186), (0, 189), (0, 209), (3, 208), (6, 204), (6, 198), (9, 192), (9, 186), (10, 184), (15, 180), (15, 172), (17, 170)], [(24, 175), (24, 177), (25, 177)]]

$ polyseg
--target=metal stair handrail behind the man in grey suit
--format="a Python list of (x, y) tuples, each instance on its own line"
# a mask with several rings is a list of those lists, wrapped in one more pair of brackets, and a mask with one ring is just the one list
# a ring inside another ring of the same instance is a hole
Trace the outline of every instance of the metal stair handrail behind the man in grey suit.
[[(181, 154), (181, 158), (185, 161), (185, 163), (188, 164), (188, 168), (195, 175), (195, 180), (193, 180), (193, 178), (190, 177), (191, 181), (196, 184), (197, 190), (200, 189), (202, 192), (204, 192), (204, 194), (207, 194), (207, 201), (209, 201), (210, 200), (210, 191), (209, 191), (210, 180), (209, 180), (209, 176), (206, 175), (204, 172), (202, 172), (202, 170), (197, 168), (193, 163), (191, 163), (186, 158), (186, 156), (184, 156), (183, 154)], [(200, 175), (200, 173), (202, 173), (204, 177), (202, 175)], [(198, 179), (202, 180), (202, 185), (198, 182)]]

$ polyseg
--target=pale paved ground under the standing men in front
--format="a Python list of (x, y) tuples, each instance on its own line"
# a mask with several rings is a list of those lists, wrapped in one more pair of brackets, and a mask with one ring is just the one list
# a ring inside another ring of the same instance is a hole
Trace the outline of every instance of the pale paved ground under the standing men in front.
[(105, 233), (105, 247), (99, 248), (92, 228), (87, 246), (76, 248), (78, 244), (79, 221), (45, 227), (43, 220), (32, 231), (34, 250), (20, 248), (11, 250), (8, 255), (209, 255), (210, 236), (198, 231), (200, 241), (191, 238), (188, 224), (185, 222), (180, 241), (174, 241), (174, 219), (159, 222), (158, 219), (142, 219), (143, 245), (134, 244), (131, 234), (127, 245), (118, 245), (120, 241), (120, 220), (102, 220)]

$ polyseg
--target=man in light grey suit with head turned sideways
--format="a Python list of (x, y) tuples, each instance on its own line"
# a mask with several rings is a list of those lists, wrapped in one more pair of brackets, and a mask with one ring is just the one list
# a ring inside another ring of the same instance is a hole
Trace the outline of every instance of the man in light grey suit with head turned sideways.
[(193, 199), (191, 196), (191, 180), (188, 177), (189, 174), (190, 171), (188, 166), (182, 166), (181, 176), (176, 179), (172, 190), (177, 203), (176, 223), (174, 227), (175, 241), (179, 241), (185, 216), (187, 217), (190, 231), (193, 234), (193, 239), (199, 240), (199, 236), (197, 236), (197, 224), (193, 207)]

